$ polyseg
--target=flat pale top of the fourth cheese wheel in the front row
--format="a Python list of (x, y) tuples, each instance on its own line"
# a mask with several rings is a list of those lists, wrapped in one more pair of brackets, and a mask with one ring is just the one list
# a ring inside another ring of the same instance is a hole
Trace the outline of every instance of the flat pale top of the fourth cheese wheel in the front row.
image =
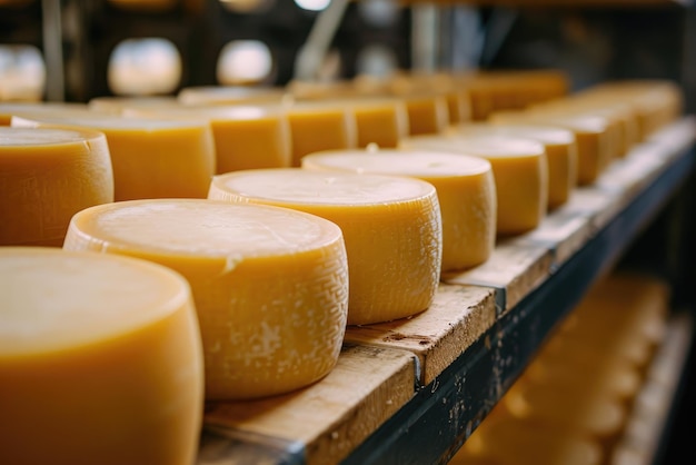
[(432, 178), (479, 175), (491, 169), (484, 158), (418, 149), (326, 150), (305, 156), (302, 167)]

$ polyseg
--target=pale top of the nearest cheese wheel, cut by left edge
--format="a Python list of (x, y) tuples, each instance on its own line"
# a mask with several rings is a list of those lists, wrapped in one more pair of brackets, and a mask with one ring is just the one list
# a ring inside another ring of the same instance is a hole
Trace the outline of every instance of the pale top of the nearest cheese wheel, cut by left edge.
[(77, 348), (161, 319), (190, 299), (169, 268), (59, 248), (0, 248), (0, 358)]

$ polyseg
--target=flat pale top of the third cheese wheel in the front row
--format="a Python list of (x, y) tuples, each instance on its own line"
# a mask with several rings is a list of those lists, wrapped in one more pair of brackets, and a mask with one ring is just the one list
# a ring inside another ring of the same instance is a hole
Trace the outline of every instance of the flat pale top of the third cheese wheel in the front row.
[(321, 172), (301, 168), (241, 170), (216, 176), (213, 187), (242, 197), (309, 205), (374, 206), (430, 196), (431, 184), (415, 178), (352, 172)]

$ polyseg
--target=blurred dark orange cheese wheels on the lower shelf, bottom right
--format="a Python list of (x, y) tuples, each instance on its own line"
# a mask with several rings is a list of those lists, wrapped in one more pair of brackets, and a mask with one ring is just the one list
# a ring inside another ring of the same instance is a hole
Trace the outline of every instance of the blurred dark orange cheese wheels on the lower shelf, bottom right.
[(614, 463), (664, 335), (669, 294), (648, 275), (603, 278), (449, 463)]

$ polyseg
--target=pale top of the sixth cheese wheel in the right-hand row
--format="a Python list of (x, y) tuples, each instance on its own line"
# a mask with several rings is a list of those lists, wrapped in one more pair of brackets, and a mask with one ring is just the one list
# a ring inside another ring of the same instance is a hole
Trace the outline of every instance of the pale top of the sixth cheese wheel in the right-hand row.
[(530, 125), (530, 123), (476, 123), (467, 122), (453, 127), (449, 131), (460, 136), (513, 136), (538, 140), (544, 145), (569, 145), (575, 141), (575, 135), (560, 127)]

